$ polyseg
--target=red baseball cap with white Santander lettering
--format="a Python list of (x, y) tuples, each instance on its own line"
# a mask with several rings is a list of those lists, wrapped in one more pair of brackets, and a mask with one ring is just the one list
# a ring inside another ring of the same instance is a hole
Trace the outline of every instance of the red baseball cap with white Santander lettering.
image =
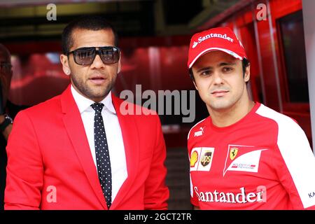
[(241, 41), (229, 27), (216, 27), (194, 34), (190, 39), (188, 69), (205, 53), (221, 50), (237, 59), (247, 58)]

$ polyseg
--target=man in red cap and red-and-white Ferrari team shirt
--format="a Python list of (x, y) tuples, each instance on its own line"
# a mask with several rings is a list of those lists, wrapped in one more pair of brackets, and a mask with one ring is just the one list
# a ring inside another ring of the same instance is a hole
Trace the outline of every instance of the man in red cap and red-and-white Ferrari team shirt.
[(315, 158), (297, 123), (249, 99), (250, 66), (230, 28), (195, 34), (188, 68), (210, 116), (188, 134), (200, 209), (314, 209)]

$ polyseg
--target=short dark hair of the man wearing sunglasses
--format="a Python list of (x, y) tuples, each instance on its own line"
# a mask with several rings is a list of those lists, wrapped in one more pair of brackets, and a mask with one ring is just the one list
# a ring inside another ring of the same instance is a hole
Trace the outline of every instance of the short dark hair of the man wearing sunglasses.
[(84, 15), (76, 20), (73, 20), (64, 28), (62, 32), (62, 52), (66, 54), (73, 45), (72, 32), (74, 29), (100, 30), (111, 29), (115, 38), (115, 46), (118, 46), (118, 34), (116, 29), (100, 15)]

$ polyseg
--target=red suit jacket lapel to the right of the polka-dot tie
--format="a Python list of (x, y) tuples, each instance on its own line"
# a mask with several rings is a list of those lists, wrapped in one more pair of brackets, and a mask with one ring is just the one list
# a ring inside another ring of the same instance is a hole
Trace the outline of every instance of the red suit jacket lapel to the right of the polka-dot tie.
[[(134, 118), (132, 118), (132, 116), (130, 115), (123, 115), (120, 111), (120, 106), (123, 103), (123, 100), (115, 97), (113, 94), (112, 99), (113, 106), (115, 107), (120, 128), (123, 134), (128, 173), (127, 179), (123, 183), (123, 186), (121, 186), (120, 190), (118, 191), (118, 194), (116, 195), (115, 200), (113, 201), (113, 204), (111, 205), (111, 209), (116, 209), (120, 202), (123, 201), (125, 195), (130, 191), (132, 183), (134, 182), (134, 179), (137, 176), (137, 169), (139, 163), (139, 133)], [(134, 105), (129, 104), (128, 106)]]

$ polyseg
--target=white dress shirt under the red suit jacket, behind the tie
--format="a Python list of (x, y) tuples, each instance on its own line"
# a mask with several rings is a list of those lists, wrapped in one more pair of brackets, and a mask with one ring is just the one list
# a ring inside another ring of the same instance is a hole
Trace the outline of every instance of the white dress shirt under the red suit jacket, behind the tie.
[[(85, 129), (87, 141), (90, 145), (92, 158), (95, 169), (97, 169), (97, 162), (95, 158), (94, 148), (94, 115), (95, 111), (90, 106), (94, 102), (83, 97), (71, 85), (71, 93), (80, 111), (81, 118)], [(104, 107), (102, 109), (102, 116), (104, 120), (104, 127), (106, 132), (107, 144), (109, 146), (109, 158), (111, 159), (111, 179), (112, 179), (112, 195), (111, 201), (115, 199), (118, 190), (127, 179), (127, 163), (125, 156), (125, 146), (123, 142), (123, 134), (120, 129), (120, 124), (111, 99), (111, 92), (102, 100)]]

